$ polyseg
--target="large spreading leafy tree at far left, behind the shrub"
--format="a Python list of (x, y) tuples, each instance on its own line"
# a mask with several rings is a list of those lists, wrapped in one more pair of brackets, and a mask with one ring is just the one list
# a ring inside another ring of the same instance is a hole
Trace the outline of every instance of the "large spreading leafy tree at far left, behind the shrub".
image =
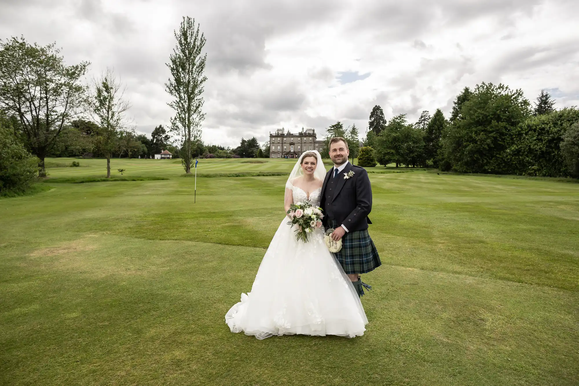
[(85, 109), (87, 88), (81, 79), (87, 67), (87, 61), (65, 65), (54, 44), (0, 41), (0, 108), (20, 120), (26, 145), (40, 160), (41, 176), (65, 123)]

